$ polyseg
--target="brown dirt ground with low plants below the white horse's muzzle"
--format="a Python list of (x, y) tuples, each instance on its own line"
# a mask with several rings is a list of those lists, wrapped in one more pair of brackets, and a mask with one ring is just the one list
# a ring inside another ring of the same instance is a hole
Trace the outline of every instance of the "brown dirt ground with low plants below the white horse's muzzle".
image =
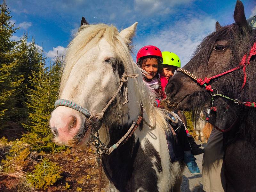
[[(72, 148), (64, 152), (50, 154), (47, 157), (61, 166), (62, 178), (45, 190), (36, 191), (73, 192), (80, 189), (84, 192), (93, 192), (97, 190), (98, 168), (92, 149), (80, 151)], [(104, 192), (106, 191), (105, 187), (108, 186), (108, 181), (104, 175), (102, 185), (101, 191)], [(20, 180), (14, 177), (0, 176), (0, 192), (16, 192), (21, 189)]]

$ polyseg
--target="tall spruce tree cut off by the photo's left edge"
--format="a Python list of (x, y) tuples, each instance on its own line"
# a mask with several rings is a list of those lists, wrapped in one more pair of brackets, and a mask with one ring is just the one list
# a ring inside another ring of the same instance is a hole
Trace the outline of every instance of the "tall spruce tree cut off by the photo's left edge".
[[(5, 2), (0, 4), (0, 127), (9, 119), (15, 109), (15, 91), (23, 81), (22, 75), (17, 75), (17, 65), (13, 52), (18, 42), (10, 40), (18, 28), (10, 22), (12, 16)], [(14, 75), (15, 74), (15, 75)]]

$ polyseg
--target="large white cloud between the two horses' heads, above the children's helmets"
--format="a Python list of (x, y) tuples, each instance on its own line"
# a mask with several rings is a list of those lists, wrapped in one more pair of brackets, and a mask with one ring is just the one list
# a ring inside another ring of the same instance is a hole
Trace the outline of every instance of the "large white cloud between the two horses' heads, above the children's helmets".
[(176, 53), (184, 66), (192, 57), (198, 44), (215, 28), (216, 20), (210, 17), (189, 16), (189, 20), (177, 21), (174, 25), (164, 28), (158, 33), (149, 34), (136, 50), (147, 44), (152, 44), (161, 51)]

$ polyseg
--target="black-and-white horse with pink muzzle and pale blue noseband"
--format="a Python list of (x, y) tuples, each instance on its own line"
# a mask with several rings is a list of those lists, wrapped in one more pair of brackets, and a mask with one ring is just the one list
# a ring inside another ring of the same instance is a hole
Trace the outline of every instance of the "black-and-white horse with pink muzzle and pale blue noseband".
[[(83, 19), (67, 48), (59, 99), (88, 109), (92, 115), (89, 119), (100, 119), (99, 136), (107, 148), (125, 135), (143, 109), (145, 121), (139, 123), (132, 136), (110, 155), (102, 155), (104, 172), (122, 192), (180, 191), (183, 165), (171, 162), (165, 136), (170, 129), (166, 114), (153, 107), (155, 96), (132, 60), (131, 43), (137, 22), (119, 33), (114, 26), (88, 25)], [(100, 113), (120, 86), (123, 73), (139, 77), (128, 77), (105, 113)], [(129, 103), (123, 105), (127, 88)], [(50, 119), (55, 142), (73, 147), (86, 145), (92, 136), (89, 119), (73, 108), (57, 107)], [(148, 125), (155, 121), (156, 126), (150, 128)]]

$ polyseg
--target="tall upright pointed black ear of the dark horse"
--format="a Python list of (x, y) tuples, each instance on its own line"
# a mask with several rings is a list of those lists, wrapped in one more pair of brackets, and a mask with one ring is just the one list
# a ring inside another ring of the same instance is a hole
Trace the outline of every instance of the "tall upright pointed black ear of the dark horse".
[(241, 1), (236, 1), (236, 7), (234, 12), (234, 19), (236, 21), (236, 24), (240, 26), (243, 33), (246, 34), (251, 31), (251, 28), (249, 27), (245, 14), (244, 14), (244, 5)]

